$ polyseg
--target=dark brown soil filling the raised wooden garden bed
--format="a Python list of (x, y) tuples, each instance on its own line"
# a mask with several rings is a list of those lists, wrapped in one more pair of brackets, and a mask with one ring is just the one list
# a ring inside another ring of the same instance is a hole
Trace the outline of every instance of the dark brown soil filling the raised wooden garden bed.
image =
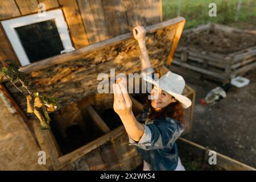
[(200, 34), (182, 35), (179, 45), (201, 51), (228, 54), (256, 46), (256, 36), (249, 33), (241, 36), (238, 32), (230, 33), (222, 30), (209, 32), (205, 30)]

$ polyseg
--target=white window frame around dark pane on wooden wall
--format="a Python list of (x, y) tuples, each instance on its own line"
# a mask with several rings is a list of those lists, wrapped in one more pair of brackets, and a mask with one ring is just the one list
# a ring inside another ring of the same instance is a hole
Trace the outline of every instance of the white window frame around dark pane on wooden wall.
[(2, 26), (6, 32), (7, 37), (9, 38), (11, 45), (14, 48), (16, 55), (22, 66), (31, 64), (30, 60), (27, 57), (27, 54), (20, 42), (19, 35), (14, 28), (26, 26), (33, 23), (44, 22), (46, 20), (55, 20), (57, 31), (59, 32), (61, 42), (63, 43), (64, 50), (63, 52), (73, 51), (75, 48), (72, 46), (71, 38), (69, 37), (68, 26), (65, 22), (63, 12), (61, 9), (46, 11), (46, 16), (39, 16), (39, 14), (32, 14), (27, 16), (22, 16), (19, 18), (3, 20)]

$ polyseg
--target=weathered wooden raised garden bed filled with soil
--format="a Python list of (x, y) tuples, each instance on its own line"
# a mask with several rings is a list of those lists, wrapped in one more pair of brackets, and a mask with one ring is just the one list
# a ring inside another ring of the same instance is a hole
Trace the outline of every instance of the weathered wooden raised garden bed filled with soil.
[(172, 62), (229, 82), (256, 68), (256, 31), (214, 23), (185, 30)]

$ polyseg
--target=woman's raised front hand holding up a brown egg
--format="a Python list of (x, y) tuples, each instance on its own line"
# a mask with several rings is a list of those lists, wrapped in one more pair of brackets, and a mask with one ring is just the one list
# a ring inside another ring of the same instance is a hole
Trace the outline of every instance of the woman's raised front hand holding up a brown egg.
[(127, 92), (127, 81), (124, 77), (119, 77), (115, 84), (113, 84), (114, 92), (114, 111), (119, 117), (126, 117), (132, 113), (131, 98)]

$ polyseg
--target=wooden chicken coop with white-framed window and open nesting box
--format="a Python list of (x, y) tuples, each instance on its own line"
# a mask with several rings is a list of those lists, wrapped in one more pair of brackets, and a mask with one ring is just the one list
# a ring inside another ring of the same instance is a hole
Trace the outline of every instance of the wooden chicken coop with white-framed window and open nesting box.
[[(26, 92), (20, 93), (7, 80), (0, 85), (34, 144), (46, 151), (47, 168), (131, 170), (141, 164), (114, 113), (113, 94), (97, 93), (97, 75), (110, 75), (113, 68), (115, 75), (140, 72), (139, 47), (131, 34), (137, 25), (147, 31), (152, 66), (160, 75), (167, 72), (164, 65), (171, 65), (185, 19), (162, 22), (159, 0), (0, 3), (1, 60), (17, 61), (32, 92), (59, 98), (57, 110), (49, 114), (51, 130), (41, 130), (37, 118), (27, 113)], [(44, 3), (46, 16), (39, 16), (39, 3)], [(183, 94), (195, 101), (195, 91), (188, 85)], [(139, 114), (142, 105), (135, 98), (139, 97), (133, 98), (133, 110)], [(193, 105), (185, 112), (188, 131)]]

